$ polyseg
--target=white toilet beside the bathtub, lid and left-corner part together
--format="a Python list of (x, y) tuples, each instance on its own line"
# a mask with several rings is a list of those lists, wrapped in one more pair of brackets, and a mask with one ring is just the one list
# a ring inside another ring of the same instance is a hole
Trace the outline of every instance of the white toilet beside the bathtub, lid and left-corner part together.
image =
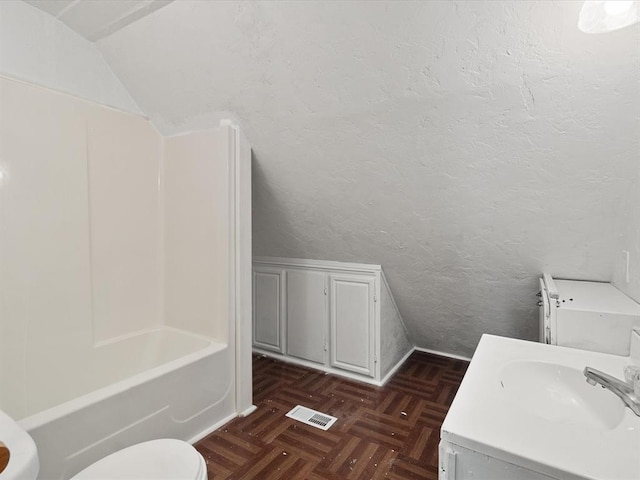
[[(29, 434), (0, 410), (0, 441), (9, 463), (0, 480), (36, 480), (38, 451)], [(206, 480), (207, 466), (198, 451), (182, 440), (139, 443), (89, 465), (71, 480)]]

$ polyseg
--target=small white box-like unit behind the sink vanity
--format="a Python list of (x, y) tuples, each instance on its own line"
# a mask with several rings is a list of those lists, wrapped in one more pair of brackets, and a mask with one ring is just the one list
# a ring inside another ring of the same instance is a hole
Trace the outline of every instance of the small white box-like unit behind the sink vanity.
[(631, 330), (640, 327), (640, 305), (611, 283), (540, 282), (540, 340), (552, 345), (629, 355)]

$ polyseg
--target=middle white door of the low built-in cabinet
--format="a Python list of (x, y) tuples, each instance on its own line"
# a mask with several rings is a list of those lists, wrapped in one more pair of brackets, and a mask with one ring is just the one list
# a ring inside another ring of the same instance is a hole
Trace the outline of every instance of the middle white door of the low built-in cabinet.
[(326, 363), (327, 275), (287, 270), (287, 354)]

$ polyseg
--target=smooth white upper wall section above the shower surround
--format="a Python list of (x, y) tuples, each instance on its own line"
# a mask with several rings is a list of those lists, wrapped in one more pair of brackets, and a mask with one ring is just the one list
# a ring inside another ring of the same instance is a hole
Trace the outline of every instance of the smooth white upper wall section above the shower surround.
[(140, 113), (93, 43), (22, 0), (0, 1), (0, 75)]

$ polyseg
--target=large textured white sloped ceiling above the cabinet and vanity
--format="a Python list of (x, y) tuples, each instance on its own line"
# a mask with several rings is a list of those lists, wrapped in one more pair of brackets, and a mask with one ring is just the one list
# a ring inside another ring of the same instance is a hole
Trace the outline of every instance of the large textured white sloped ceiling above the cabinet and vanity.
[(537, 336), (537, 276), (609, 280), (640, 32), (581, 2), (181, 0), (97, 44), (166, 134), (240, 121), (254, 254), (382, 264), (418, 346)]

